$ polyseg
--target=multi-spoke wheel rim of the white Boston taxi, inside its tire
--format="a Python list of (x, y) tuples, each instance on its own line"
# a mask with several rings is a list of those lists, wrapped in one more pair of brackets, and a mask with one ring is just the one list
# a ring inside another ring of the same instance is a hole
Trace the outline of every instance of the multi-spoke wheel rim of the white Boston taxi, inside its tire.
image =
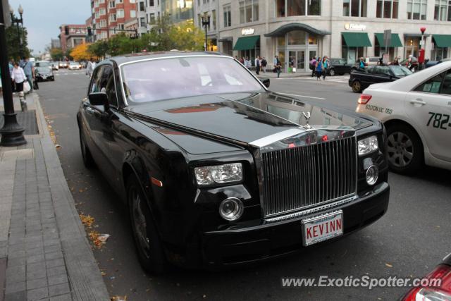
[(387, 139), (388, 161), (396, 167), (406, 167), (414, 157), (412, 140), (405, 133), (393, 132)]

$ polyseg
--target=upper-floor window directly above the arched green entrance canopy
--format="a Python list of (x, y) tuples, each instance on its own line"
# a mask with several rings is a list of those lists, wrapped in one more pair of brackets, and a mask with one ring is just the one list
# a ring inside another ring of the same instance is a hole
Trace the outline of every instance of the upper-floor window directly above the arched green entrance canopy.
[[(276, 16), (321, 16), (321, 0), (275, 0)], [(285, 9), (288, 8), (288, 11)]]

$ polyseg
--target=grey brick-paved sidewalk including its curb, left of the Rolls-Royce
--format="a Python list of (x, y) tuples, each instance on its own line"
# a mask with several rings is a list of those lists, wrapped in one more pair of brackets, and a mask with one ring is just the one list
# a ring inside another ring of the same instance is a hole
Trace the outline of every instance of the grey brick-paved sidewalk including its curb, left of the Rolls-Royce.
[(37, 94), (27, 105), (39, 134), (0, 147), (0, 301), (109, 300)]

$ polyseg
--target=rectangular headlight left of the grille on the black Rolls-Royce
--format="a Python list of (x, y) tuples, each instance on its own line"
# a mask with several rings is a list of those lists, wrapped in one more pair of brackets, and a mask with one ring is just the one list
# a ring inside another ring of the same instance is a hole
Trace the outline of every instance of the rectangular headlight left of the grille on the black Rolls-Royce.
[(206, 186), (214, 183), (230, 183), (242, 180), (242, 164), (232, 163), (217, 166), (194, 168), (197, 185)]

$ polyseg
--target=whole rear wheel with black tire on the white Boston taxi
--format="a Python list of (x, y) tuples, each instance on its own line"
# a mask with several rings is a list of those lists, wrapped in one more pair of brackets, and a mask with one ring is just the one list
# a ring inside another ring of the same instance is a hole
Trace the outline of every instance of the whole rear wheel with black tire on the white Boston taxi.
[(388, 166), (396, 173), (412, 175), (424, 163), (423, 145), (419, 135), (404, 124), (393, 124), (387, 128)]

